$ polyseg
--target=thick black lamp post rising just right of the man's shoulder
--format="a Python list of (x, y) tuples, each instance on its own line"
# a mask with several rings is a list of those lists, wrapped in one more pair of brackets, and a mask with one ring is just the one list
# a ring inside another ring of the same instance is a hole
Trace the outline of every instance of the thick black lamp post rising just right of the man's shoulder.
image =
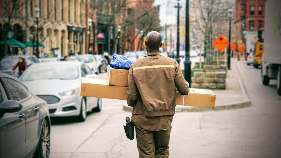
[(185, 5), (185, 61), (183, 63), (185, 75), (184, 78), (191, 87), (191, 61), (189, 54), (189, 0), (186, 0)]

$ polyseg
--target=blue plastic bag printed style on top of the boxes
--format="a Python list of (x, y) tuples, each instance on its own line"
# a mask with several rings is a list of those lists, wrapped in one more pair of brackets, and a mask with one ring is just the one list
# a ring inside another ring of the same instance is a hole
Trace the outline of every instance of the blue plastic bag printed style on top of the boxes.
[(112, 60), (110, 62), (110, 67), (116, 68), (116, 69), (125, 69), (129, 70), (130, 66), (133, 64), (132, 60), (128, 59), (127, 57), (123, 55), (118, 55), (114, 53), (112, 55)]

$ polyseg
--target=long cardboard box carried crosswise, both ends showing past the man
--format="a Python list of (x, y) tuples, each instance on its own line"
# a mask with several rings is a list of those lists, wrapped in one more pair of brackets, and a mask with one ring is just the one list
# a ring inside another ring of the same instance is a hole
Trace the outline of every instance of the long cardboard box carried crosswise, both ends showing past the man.
[[(80, 95), (126, 100), (127, 87), (110, 86), (106, 80), (82, 78)], [(190, 93), (186, 96), (180, 95), (180, 93), (176, 91), (177, 105), (214, 108), (215, 101), (216, 95), (211, 90), (190, 88)]]

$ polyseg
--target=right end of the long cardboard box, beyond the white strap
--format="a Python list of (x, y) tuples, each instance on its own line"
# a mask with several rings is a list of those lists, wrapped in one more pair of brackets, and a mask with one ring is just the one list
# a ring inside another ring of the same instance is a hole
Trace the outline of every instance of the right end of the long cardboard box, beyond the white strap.
[(207, 89), (190, 88), (188, 95), (184, 96), (183, 105), (192, 107), (214, 108), (216, 94)]

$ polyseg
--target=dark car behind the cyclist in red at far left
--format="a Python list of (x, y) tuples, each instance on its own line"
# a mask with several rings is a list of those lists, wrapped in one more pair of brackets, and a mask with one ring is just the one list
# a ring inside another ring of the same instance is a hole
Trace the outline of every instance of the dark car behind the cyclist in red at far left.
[(25, 59), (26, 64), (28, 65), (28, 67), (34, 63), (38, 63), (39, 60), (37, 59), (36, 56), (34, 55), (22, 55), (22, 56), (18, 56), (18, 55), (11, 55), (11, 56), (6, 56), (3, 59), (1, 59), (0, 62), (0, 72), (4, 72), (7, 73), (9, 75), (13, 75), (15, 77), (17, 77), (17, 73), (18, 73), (18, 68), (14, 71), (15, 74), (12, 74), (12, 69), (14, 67), (14, 65), (17, 64), (17, 62), (19, 61), (19, 57), (23, 57)]

